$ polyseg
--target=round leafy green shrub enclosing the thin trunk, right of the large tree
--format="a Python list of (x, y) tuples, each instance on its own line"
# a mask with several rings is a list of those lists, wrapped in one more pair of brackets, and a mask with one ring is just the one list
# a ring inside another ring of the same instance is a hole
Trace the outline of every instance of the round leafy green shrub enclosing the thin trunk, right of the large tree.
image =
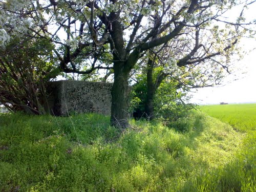
[[(144, 71), (146, 70), (147, 68), (144, 69)], [(189, 98), (188, 85), (171, 75), (165, 76), (160, 82), (159, 76), (163, 73), (162, 71), (162, 67), (154, 68), (150, 83), (148, 83), (148, 73), (137, 75), (137, 83), (133, 85), (133, 101), (137, 101), (133, 111), (134, 118), (147, 120), (161, 118), (166, 122), (174, 121), (186, 115), (184, 110), (187, 111), (194, 106), (184, 102)], [(182, 81), (185, 81), (185, 77), (182, 78)], [(151, 84), (152, 87), (149, 88), (148, 84)], [(150, 102), (148, 102), (148, 98), (151, 99)], [(150, 108), (148, 104), (150, 104)]]

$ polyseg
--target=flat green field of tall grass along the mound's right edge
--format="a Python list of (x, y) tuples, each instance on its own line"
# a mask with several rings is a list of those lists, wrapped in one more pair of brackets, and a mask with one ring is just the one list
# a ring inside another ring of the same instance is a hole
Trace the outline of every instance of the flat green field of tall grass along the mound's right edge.
[(189, 178), (179, 191), (256, 191), (256, 104), (205, 105), (201, 110), (246, 137), (227, 164)]

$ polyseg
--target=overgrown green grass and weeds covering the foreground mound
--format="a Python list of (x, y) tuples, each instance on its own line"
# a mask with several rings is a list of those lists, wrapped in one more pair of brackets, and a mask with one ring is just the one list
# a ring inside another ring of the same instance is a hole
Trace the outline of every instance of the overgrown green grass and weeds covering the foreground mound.
[(198, 112), (130, 123), (120, 135), (97, 114), (0, 115), (0, 190), (255, 191), (255, 134)]

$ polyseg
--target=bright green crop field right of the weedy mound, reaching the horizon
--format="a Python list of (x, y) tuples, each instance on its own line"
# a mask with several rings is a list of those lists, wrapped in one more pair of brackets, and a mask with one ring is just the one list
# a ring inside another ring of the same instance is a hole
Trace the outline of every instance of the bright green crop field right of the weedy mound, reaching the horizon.
[[(242, 177), (247, 178), (247, 180), (251, 179), (251, 183), (245, 184), (246, 182), (243, 181), (240, 189), (234, 190), (228, 187), (229, 189), (225, 191), (256, 191), (256, 103), (203, 105), (199, 107), (199, 111), (230, 124), (233, 130), (244, 133), (245, 137), (241, 148), (234, 154), (234, 158), (229, 163), (223, 168), (217, 168), (214, 172), (207, 172), (204, 178), (197, 177), (190, 181), (190, 185), (198, 186), (199, 191), (210, 191), (205, 190), (204, 186), (207, 186), (209, 182), (223, 182), (222, 180), (225, 180), (224, 182), (229, 186), (235, 186), (240, 182), (239, 179), (230, 181), (230, 178), (234, 175), (239, 178), (242, 173), (241, 169), (249, 169), (250, 172), (245, 172)], [(249, 159), (251, 162), (248, 164)], [(211, 190), (223, 191), (223, 189), (216, 189), (214, 185)]]

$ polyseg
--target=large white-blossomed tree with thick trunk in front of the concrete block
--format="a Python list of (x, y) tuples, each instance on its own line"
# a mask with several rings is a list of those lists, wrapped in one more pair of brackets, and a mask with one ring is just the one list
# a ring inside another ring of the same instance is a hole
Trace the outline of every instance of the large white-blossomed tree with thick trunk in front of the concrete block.
[[(15, 8), (17, 2), (19, 6)], [(28, 38), (54, 42), (62, 71), (88, 74), (98, 69), (113, 69), (111, 124), (124, 128), (129, 125), (129, 75), (145, 52), (173, 41), (174, 45), (177, 42), (173, 52), (180, 53), (173, 58), (177, 66), (210, 62), (226, 69), (221, 58), (228, 62), (239, 38), (245, 31), (251, 32), (252, 23), (246, 22), (243, 12), (253, 2), (9, 0), (1, 3), (1, 12), (4, 18), (23, 19), (23, 27), (33, 32), (31, 35), (21, 31)], [(225, 17), (228, 10), (238, 4), (241, 13), (228, 20)], [(13, 25), (7, 21), (1, 29), (7, 40), (8, 33), (16, 29)], [(111, 54), (111, 65), (104, 65), (103, 53)], [(86, 65), (87, 70), (81, 70), (84, 69), (81, 65)]]

